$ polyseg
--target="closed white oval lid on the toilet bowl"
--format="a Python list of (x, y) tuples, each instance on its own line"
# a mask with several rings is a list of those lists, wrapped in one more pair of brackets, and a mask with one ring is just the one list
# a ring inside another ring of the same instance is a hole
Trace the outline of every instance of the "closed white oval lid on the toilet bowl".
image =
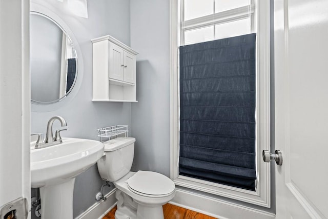
[(167, 195), (175, 189), (175, 185), (170, 178), (151, 171), (139, 170), (127, 180), (127, 184), (131, 191), (147, 196)]

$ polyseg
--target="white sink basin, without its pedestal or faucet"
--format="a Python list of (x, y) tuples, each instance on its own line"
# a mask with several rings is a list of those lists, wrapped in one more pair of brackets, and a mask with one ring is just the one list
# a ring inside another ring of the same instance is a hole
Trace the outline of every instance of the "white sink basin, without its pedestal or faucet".
[(31, 143), (32, 188), (54, 185), (73, 178), (94, 165), (104, 153), (98, 141), (63, 138), (63, 143), (34, 149)]

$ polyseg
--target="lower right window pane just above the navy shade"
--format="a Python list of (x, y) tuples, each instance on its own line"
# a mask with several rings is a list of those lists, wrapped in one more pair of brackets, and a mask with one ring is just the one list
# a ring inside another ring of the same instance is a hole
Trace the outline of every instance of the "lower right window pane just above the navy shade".
[(234, 22), (215, 25), (215, 39), (239, 36), (251, 33), (251, 19), (245, 18)]

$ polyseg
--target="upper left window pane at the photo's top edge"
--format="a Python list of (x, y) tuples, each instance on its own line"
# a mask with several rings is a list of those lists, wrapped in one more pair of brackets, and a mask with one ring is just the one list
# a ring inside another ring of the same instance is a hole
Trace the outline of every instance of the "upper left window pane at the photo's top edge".
[(185, 0), (184, 4), (185, 21), (213, 14), (214, 11), (213, 0)]

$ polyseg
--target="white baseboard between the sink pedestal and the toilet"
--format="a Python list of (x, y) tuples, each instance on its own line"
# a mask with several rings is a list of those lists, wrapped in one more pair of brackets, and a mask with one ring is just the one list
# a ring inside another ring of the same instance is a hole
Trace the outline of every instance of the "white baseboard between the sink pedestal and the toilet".
[(88, 208), (88, 210), (75, 217), (75, 219), (103, 218), (116, 205), (117, 200), (115, 198), (115, 192), (116, 192), (116, 188), (114, 188), (112, 191), (110, 191), (105, 195), (107, 197), (106, 202), (101, 200), (93, 204), (90, 208)]

